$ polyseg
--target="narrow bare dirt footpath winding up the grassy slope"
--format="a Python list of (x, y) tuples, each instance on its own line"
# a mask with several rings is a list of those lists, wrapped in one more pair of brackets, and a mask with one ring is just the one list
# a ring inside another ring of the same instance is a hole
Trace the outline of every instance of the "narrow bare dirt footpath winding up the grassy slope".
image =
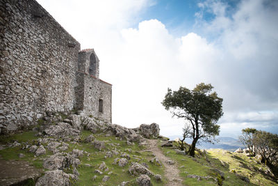
[(180, 186), (182, 185), (182, 179), (179, 176), (179, 169), (177, 166), (177, 162), (174, 164), (169, 164), (167, 162), (173, 161), (169, 157), (163, 155), (162, 151), (158, 148), (157, 139), (148, 139), (148, 147), (147, 150), (151, 150), (156, 157), (161, 161), (161, 163), (165, 166), (165, 177), (168, 180), (166, 186)]

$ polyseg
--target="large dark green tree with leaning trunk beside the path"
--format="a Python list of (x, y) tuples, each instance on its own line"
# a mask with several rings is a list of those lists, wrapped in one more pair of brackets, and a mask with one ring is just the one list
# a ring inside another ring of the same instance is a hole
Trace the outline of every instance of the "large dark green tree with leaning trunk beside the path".
[(170, 110), (173, 116), (186, 120), (186, 135), (193, 139), (188, 154), (193, 157), (199, 139), (213, 142), (215, 136), (220, 132), (220, 126), (216, 123), (223, 115), (223, 100), (218, 97), (216, 92), (211, 93), (212, 89), (211, 84), (204, 83), (197, 84), (192, 91), (182, 86), (178, 91), (168, 88), (162, 102), (165, 109)]

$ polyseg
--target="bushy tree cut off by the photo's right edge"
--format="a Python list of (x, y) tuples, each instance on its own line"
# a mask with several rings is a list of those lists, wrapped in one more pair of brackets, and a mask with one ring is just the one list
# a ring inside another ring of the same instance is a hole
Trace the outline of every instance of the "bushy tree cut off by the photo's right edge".
[(270, 132), (257, 130), (253, 135), (255, 152), (261, 155), (261, 162), (272, 166), (278, 156), (278, 135)]

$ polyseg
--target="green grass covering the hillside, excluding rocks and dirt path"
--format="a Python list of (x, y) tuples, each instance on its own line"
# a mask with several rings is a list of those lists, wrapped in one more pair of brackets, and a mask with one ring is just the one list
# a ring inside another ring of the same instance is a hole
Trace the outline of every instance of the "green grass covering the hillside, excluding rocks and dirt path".
[[(144, 150), (144, 146), (139, 146), (138, 143), (129, 144), (117, 137), (101, 133), (93, 134), (97, 141), (104, 141), (105, 144), (103, 150), (97, 150), (92, 144), (83, 142), (83, 139), (90, 134), (92, 133), (83, 130), (78, 142), (66, 142), (69, 144), (68, 149), (65, 150), (66, 153), (72, 152), (73, 149), (86, 152), (79, 158), (81, 160), (77, 169), (79, 180), (77, 182), (72, 180), (73, 185), (120, 185), (120, 183), (127, 181), (129, 181), (128, 185), (136, 185), (138, 176), (132, 176), (128, 171), (131, 162), (146, 164), (150, 171), (162, 176), (162, 181), (152, 178), (152, 185), (165, 185), (167, 183), (164, 176), (164, 166), (149, 162), (154, 158), (152, 151)], [(60, 139), (53, 140), (59, 141)], [(15, 141), (20, 144), (15, 145), (17, 144)], [(28, 152), (28, 148), (25, 148), (26, 145), (38, 144), (38, 141), (40, 141), (39, 137), (36, 137), (35, 132), (32, 131), (10, 137), (1, 136), (0, 144), (1, 148), (4, 149), (0, 150), (0, 159), (26, 161), (37, 169), (47, 171), (43, 168), (43, 161), (44, 158), (53, 155), (53, 153), (46, 148), (47, 153), (45, 155), (36, 157), (34, 153)], [(47, 144), (42, 145), (47, 146)], [(119, 154), (107, 157), (106, 153), (113, 150), (117, 150)], [(230, 153), (221, 149), (208, 150), (206, 153), (197, 151), (196, 157), (179, 154), (177, 150), (170, 147), (161, 148), (161, 150), (164, 155), (172, 158), (179, 166), (184, 185), (277, 185), (275, 180), (264, 173), (268, 167), (260, 164), (255, 157), (246, 157), (243, 154)], [(120, 158), (124, 153), (130, 157), (128, 164), (124, 167), (113, 164), (115, 158)], [(19, 157), (19, 154), (22, 154), (23, 157)], [(105, 162), (108, 169), (102, 171), (102, 174), (96, 173), (95, 169), (98, 169), (102, 162)], [(65, 171), (72, 173), (73, 170), (67, 169)], [(221, 175), (221, 172), (224, 173), (224, 176)], [(94, 176), (96, 177), (94, 178)], [(109, 180), (103, 182), (104, 176), (109, 176)], [(248, 178), (250, 183), (246, 182), (245, 178)]]

